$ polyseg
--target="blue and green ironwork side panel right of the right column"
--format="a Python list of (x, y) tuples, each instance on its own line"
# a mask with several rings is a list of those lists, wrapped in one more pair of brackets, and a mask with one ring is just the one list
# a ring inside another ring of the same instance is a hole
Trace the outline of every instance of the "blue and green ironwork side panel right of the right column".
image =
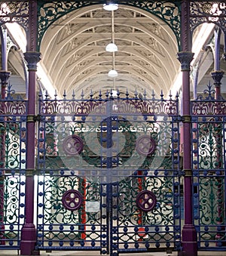
[[(194, 224), (200, 249), (225, 250), (225, 100), (192, 101)], [(206, 97), (205, 97), (206, 96)]]

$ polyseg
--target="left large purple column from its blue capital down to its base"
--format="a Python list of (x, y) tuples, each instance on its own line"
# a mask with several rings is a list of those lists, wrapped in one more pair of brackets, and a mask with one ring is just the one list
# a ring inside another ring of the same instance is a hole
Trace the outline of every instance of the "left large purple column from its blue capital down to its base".
[(26, 52), (24, 57), (29, 70), (28, 110), (26, 121), (26, 212), (25, 224), (21, 230), (20, 253), (32, 255), (35, 250), (36, 230), (34, 219), (34, 171), (35, 171), (35, 86), (37, 63), (41, 54)]

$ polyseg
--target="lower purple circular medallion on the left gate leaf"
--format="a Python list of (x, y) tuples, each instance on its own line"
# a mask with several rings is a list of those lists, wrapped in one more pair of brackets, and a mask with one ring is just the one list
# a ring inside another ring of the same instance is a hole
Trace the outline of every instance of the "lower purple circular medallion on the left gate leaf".
[(68, 190), (63, 193), (62, 202), (66, 209), (76, 211), (81, 207), (83, 197), (78, 190)]

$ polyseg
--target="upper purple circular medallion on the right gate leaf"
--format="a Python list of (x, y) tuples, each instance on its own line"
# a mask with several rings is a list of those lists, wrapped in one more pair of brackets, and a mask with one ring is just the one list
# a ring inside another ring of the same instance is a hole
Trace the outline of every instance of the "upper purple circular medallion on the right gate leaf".
[(154, 153), (156, 143), (150, 135), (142, 135), (136, 140), (136, 151), (142, 156)]

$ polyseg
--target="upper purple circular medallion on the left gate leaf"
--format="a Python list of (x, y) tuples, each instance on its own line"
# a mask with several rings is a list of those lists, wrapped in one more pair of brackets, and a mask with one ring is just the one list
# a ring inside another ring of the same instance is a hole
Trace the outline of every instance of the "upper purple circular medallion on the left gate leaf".
[(83, 150), (83, 142), (81, 137), (77, 135), (69, 135), (63, 140), (63, 150), (69, 156), (75, 156), (81, 153)]

